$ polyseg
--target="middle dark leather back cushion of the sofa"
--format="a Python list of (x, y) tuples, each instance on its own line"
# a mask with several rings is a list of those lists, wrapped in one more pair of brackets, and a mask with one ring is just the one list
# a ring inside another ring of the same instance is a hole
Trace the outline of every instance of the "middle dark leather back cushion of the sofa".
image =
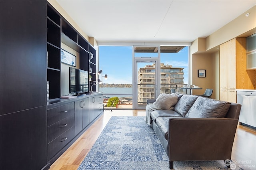
[(180, 100), (174, 106), (173, 110), (185, 117), (197, 98), (198, 96), (195, 95), (182, 95)]

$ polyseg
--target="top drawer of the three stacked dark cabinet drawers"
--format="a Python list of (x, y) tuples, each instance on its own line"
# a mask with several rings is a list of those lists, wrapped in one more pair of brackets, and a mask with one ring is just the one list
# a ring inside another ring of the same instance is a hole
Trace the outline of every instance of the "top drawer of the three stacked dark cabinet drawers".
[(75, 114), (75, 104), (70, 103), (47, 111), (47, 126)]

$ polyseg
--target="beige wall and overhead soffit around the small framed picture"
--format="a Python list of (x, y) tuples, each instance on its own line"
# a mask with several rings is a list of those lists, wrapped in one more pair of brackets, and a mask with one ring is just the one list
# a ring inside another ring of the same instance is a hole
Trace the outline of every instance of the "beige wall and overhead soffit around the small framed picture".
[[(250, 15), (246, 17), (245, 14), (248, 12)], [(207, 38), (194, 40), (190, 47), (190, 80), (191, 84), (199, 85), (199, 87), (204, 89), (194, 91), (193, 94), (202, 93), (206, 88), (212, 88), (214, 89), (212, 97), (219, 99), (219, 45), (233, 38), (245, 38), (254, 33), (256, 33), (256, 6), (244, 12)], [(198, 69), (206, 69), (206, 78), (197, 77)]]

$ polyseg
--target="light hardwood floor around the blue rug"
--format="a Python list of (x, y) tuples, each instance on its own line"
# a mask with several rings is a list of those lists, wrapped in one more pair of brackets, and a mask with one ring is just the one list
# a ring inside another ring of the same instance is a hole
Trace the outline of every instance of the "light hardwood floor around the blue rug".
[[(112, 116), (145, 116), (145, 110), (104, 111), (102, 115), (58, 160), (50, 170), (76, 170)], [(256, 169), (256, 130), (238, 125), (232, 150), (235, 164)]]

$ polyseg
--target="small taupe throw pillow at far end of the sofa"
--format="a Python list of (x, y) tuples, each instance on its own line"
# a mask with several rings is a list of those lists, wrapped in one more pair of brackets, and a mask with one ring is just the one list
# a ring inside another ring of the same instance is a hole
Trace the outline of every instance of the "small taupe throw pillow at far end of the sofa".
[(177, 101), (177, 95), (161, 93), (153, 104), (155, 105), (155, 107), (163, 110), (172, 110), (173, 106), (176, 105)]

